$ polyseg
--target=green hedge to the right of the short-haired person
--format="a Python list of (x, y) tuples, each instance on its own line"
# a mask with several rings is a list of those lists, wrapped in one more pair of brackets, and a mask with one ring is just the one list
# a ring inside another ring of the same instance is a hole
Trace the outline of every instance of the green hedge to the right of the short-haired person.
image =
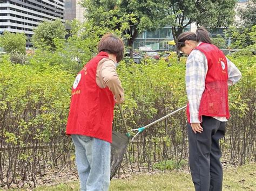
[[(221, 140), (223, 154), (234, 163), (244, 164), (254, 159), (255, 135), (255, 63), (256, 57), (230, 57), (241, 70), (242, 79), (229, 88), (231, 118), (226, 138)], [(171, 66), (170, 66), (171, 63)], [(125, 89), (123, 104), (130, 129), (145, 126), (186, 104), (185, 61), (159, 61), (149, 65), (119, 67)], [(114, 128), (124, 131), (120, 115), (115, 116)], [(135, 162), (168, 160), (187, 157), (185, 111), (152, 126), (130, 146), (129, 159)], [(128, 159), (127, 159), (128, 160)]]

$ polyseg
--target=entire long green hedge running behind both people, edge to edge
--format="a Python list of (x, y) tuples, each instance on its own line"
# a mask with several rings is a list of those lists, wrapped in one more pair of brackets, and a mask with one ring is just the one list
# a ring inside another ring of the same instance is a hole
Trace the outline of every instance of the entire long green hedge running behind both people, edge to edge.
[[(242, 80), (230, 88), (231, 119), (221, 146), (224, 156), (244, 164), (254, 157), (256, 59), (230, 59), (241, 70)], [(31, 65), (13, 65), (4, 56), (0, 62), (0, 169), (4, 174), (1, 181), (7, 185), (21, 178), (36, 184), (36, 176), (44, 174), (46, 167), (73, 160), (65, 125), (75, 72), (31, 60)], [(121, 62), (118, 66), (129, 129), (149, 124), (186, 104), (185, 60), (146, 63)], [(113, 129), (125, 132), (117, 108)], [(153, 168), (154, 162), (182, 162), (187, 152), (184, 110), (145, 130), (129, 145), (124, 161)]]

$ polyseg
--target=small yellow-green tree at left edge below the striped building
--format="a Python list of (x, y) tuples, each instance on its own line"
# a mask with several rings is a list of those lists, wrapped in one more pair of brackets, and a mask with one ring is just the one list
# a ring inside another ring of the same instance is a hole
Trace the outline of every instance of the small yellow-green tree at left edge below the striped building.
[(6, 53), (25, 54), (26, 36), (24, 33), (4, 32), (0, 37), (0, 46), (4, 48)]

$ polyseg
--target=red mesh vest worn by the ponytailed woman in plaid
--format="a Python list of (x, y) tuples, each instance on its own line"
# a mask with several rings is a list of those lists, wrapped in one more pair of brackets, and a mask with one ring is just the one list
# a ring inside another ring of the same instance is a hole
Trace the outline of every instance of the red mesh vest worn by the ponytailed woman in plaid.
[[(219, 48), (211, 44), (201, 43), (195, 49), (205, 54), (208, 63), (205, 90), (199, 106), (199, 120), (201, 121), (203, 115), (229, 118), (226, 57)], [(187, 119), (190, 123), (189, 105), (187, 105)]]

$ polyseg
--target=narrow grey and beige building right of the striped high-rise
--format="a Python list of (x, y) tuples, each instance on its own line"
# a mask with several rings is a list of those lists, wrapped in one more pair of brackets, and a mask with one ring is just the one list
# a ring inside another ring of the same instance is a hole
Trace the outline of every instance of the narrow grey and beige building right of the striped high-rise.
[(65, 0), (65, 20), (84, 21), (85, 9), (80, 5), (80, 2), (80, 0)]

